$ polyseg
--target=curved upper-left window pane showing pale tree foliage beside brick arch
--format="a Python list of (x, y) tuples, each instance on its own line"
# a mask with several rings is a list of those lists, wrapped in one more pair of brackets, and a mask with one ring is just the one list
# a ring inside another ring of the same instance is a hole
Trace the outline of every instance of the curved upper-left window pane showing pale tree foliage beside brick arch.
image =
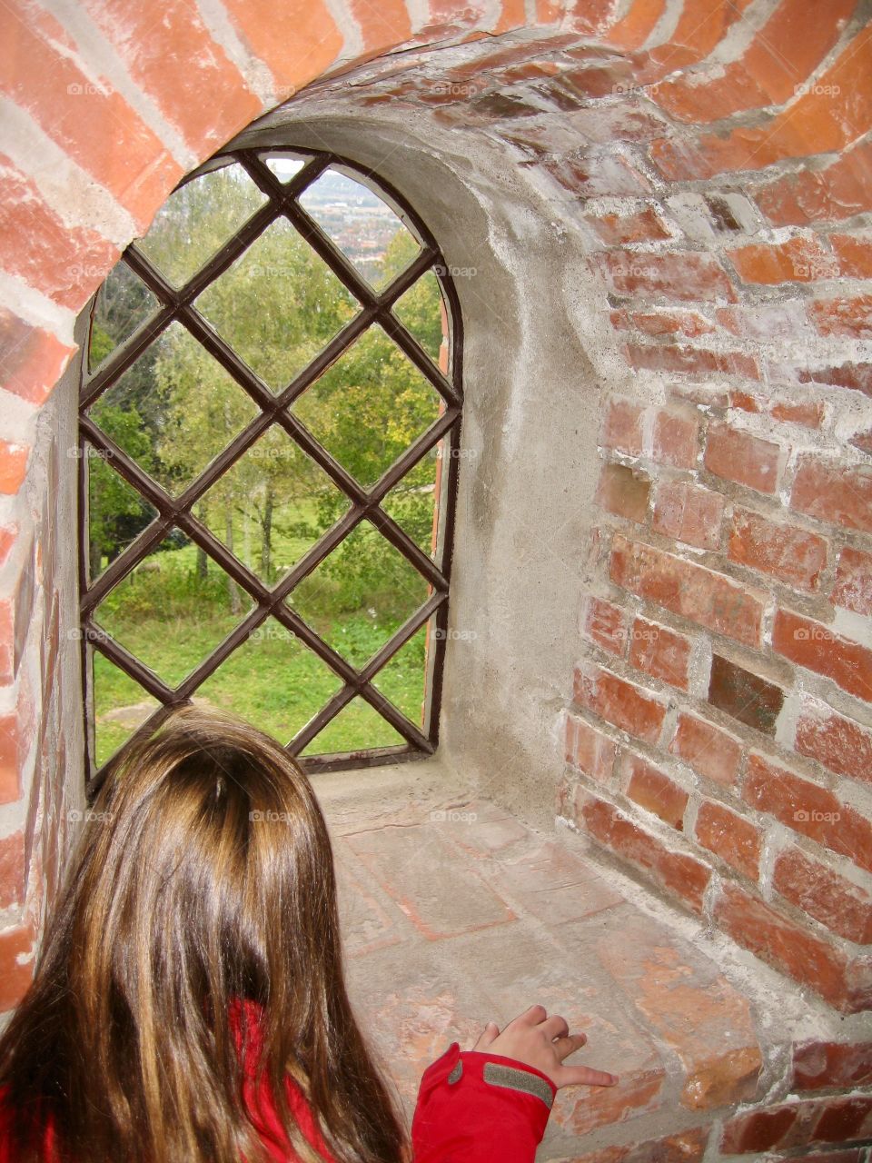
[(180, 287), (265, 201), (241, 165), (213, 170), (171, 194), (136, 247)]

